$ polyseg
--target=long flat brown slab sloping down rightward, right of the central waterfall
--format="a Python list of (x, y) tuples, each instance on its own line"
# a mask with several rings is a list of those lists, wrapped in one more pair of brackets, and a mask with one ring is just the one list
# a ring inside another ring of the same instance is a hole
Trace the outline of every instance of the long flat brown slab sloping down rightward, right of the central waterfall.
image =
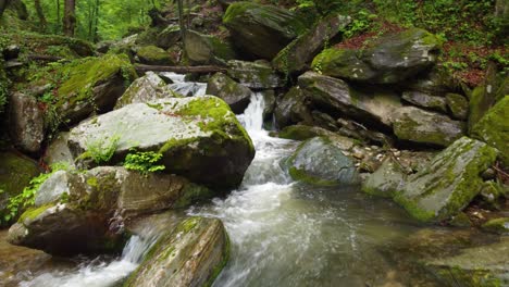
[(401, 107), (397, 95), (390, 91), (364, 93), (342, 79), (314, 72), (305, 73), (298, 83), (314, 107), (368, 123), (390, 126), (393, 114)]

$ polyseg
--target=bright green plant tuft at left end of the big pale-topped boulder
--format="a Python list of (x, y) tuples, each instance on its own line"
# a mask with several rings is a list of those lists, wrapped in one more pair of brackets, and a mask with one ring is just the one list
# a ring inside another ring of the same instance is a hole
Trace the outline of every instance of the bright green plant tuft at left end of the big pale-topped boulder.
[(114, 135), (110, 138), (99, 138), (87, 142), (87, 151), (76, 158), (79, 160), (92, 160), (96, 164), (107, 163), (111, 160), (119, 147), (120, 136)]

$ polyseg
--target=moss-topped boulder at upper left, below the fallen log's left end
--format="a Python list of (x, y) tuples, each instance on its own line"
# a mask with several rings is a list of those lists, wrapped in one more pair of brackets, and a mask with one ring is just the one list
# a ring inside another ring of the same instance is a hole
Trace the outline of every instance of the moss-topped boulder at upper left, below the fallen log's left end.
[[(55, 112), (61, 123), (75, 124), (92, 112), (111, 111), (116, 100), (124, 93), (136, 72), (126, 55), (105, 54), (87, 58), (61, 67), (66, 75), (54, 91)], [(50, 118), (48, 118), (50, 120)]]

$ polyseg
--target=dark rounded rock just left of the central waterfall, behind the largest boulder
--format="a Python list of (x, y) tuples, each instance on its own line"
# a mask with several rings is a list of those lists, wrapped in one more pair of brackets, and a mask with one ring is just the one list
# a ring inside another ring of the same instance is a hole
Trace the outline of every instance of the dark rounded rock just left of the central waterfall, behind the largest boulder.
[(216, 73), (209, 78), (207, 95), (223, 99), (236, 114), (244, 113), (249, 104), (251, 90), (223, 73)]

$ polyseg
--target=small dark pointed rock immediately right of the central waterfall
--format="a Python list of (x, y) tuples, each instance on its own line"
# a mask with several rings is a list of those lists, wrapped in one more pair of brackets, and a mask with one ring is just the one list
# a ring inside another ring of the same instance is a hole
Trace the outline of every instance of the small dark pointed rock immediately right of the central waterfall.
[(293, 87), (283, 98), (277, 100), (274, 116), (280, 127), (313, 122), (306, 97), (298, 87)]

